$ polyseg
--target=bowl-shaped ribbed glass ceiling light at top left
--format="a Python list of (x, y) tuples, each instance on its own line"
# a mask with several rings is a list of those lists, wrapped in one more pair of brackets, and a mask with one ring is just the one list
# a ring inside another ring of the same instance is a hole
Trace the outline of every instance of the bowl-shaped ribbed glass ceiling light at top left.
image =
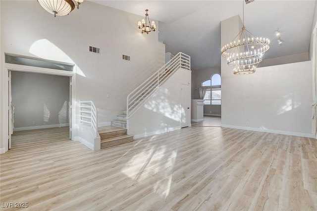
[(41, 6), (53, 14), (54, 17), (56, 17), (56, 15), (68, 15), (75, 8), (75, 2), (77, 9), (79, 9), (79, 4), (83, 1), (84, 0), (38, 0)]

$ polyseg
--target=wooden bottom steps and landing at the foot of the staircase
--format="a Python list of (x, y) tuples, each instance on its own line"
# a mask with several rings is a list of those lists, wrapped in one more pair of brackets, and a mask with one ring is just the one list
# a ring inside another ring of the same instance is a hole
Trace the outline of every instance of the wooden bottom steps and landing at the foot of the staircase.
[(111, 125), (99, 127), (98, 132), (101, 138), (101, 149), (133, 141), (133, 136), (127, 135), (126, 128)]

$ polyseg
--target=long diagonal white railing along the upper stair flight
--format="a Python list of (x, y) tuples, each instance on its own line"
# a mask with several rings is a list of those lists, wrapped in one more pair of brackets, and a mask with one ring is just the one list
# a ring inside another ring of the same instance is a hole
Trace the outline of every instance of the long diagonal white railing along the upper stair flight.
[(134, 89), (127, 97), (127, 118), (135, 112), (140, 103), (147, 99), (154, 90), (159, 88), (175, 70), (183, 68), (190, 70), (190, 56), (185, 53), (177, 53), (157, 72), (150, 76), (140, 86)]

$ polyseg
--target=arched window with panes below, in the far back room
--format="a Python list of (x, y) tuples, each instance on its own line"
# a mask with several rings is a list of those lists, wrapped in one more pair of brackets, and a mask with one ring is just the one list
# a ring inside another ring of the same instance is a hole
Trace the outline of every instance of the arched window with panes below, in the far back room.
[(207, 87), (204, 105), (221, 105), (221, 76), (213, 74), (211, 79), (203, 81), (202, 87)]

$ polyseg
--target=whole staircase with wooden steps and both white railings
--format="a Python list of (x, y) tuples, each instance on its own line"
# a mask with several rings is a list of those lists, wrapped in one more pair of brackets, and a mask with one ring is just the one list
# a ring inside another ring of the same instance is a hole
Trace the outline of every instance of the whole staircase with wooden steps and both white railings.
[(80, 102), (80, 123), (86, 124), (89, 127), (89, 131), (82, 134), (79, 132), (79, 141), (92, 150), (105, 149), (132, 142), (133, 136), (127, 135), (127, 120), (180, 68), (190, 70), (189, 55), (177, 53), (157, 72), (134, 89), (127, 97), (126, 110), (123, 110), (122, 114), (118, 114), (116, 119), (111, 120), (111, 126), (98, 127), (98, 112), (93, 102)]

